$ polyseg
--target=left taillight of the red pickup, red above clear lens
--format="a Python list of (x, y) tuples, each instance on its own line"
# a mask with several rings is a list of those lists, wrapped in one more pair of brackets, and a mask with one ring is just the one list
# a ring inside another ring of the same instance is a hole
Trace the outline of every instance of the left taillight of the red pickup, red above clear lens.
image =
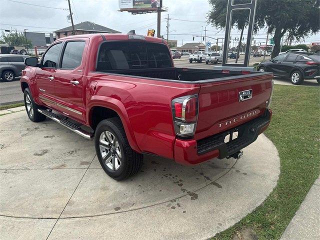
[(172, 113), (175, 134), (192, 136), (198, 116), (198, 96), (187, 95), (172, 100)]

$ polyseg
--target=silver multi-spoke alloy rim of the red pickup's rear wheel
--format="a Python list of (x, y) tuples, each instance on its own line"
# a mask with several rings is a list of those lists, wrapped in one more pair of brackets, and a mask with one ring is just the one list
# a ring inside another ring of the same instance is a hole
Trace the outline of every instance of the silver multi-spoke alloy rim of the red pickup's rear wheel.
[(103, 163), (116, 171), (121, 166), (121, 148), (117, 138), (109, 131), (103, 131), (99, 137), (99, 148)]

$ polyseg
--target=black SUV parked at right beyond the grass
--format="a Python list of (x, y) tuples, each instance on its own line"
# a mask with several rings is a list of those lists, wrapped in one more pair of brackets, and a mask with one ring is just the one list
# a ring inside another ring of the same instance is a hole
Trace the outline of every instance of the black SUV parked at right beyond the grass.
[(298, 85), (303, 79), (314, 79), (320, 83), (320, 55), (307, 52), (283, 53), (271, 60), (261, 62), (258, 71), (270, 71), (275, 76), (289, 77)]

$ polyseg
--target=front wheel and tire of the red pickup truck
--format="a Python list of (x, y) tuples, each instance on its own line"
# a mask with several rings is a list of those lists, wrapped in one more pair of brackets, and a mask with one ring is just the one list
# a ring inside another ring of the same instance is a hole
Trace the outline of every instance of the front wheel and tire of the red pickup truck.
[(46, 116), (38, 112), (40, 106), (33, 101), (31, 91), (25, 88), (23, 92), (24, 106), (29, 119), (34, 122), (44, 121)]

